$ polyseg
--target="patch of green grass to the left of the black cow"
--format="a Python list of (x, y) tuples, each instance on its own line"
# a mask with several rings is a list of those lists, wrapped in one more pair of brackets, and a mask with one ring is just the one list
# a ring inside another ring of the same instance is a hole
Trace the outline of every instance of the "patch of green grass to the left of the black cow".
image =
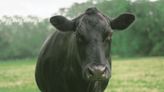
[(38, 92), (34, 80), (34, 61), (0, 62), (0, 92)]

